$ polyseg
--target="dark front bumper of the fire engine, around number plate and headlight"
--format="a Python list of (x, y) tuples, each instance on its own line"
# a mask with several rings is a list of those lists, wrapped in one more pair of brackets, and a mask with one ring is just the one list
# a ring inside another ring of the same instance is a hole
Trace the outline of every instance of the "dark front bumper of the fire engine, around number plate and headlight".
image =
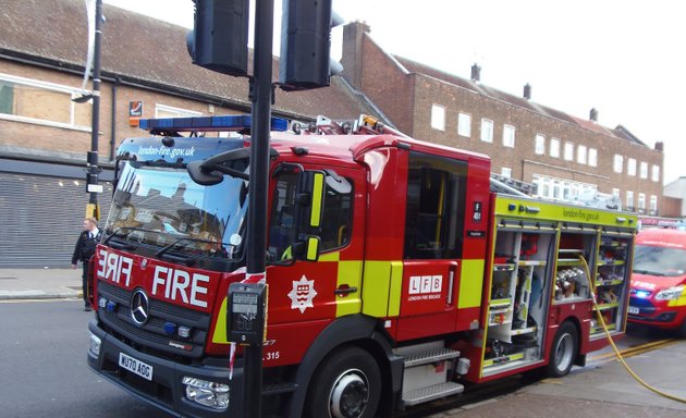
[[(176, 417), (228, 418), (243, 415), (243, 367), (240, 359), (234, 366), (233, 379), (229, 380), (228, 368), (186, 366), (138, 352), (105, 332), (95, 319), (88, 323), (88, 330), (101, 341), (98, 356), (88, 351), (88, 366), (126, 392)], [(152, 381), (121, 368), (119, 366), (120, 353), (152, 366)], [(185, 397), (185, 386), (181, 383), (184, 376), (229, 384), (229, 408), (216, 410), (188, 401)]]

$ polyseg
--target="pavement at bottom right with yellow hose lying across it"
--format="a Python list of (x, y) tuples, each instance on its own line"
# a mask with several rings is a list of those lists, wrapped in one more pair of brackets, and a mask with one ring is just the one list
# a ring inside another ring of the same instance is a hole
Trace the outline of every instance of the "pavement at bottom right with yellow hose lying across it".
[[(686, 398), (686, 341), (626, 361), (647, 383)], [(647, 390), (617, 360), (612, 360), (595, 368), (576, 368), (564, 378), (543, 379), (512, 394), (429, 418), (674, 418), (686, 417), (684, 402)]]

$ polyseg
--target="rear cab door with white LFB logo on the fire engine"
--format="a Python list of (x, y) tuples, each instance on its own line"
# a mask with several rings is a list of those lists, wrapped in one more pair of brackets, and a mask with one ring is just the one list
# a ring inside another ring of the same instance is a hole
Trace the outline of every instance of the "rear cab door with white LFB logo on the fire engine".
[(467, 162), (411, 152), (399, 340), (453, 332)]

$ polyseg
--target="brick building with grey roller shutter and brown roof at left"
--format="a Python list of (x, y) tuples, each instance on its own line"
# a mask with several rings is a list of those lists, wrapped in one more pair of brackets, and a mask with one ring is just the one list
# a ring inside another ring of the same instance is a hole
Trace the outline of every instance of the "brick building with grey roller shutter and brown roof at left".
[[(99, 151), (111, 195), (112, 159), (143, 118), (249, 112), (246, 78), (191, 63), (187, 29), (105, 5)], [(5, 0), (0, 14), (0, 268), (68, 266), (88, 195), (91, 104), (78, 104), (87, 50), (82, 0)], [(274, 77), (278, 62), (273, 62)], [(341, 77), (311, 91), (277, 91), (274, 115), (309, 121), (377, 114)]]

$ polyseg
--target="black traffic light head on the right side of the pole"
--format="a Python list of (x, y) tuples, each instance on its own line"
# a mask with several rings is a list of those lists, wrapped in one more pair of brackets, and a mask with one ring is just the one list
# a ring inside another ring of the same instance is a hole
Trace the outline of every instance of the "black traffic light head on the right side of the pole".
[[(343, 23), (332, 0), (283, 0), (279, 83), (284, 90), (329, 85), (331, 28)], [(338, 64), (338, 63), (336, 63)], [(340, 64), (338, 64), (340, 71)]]

